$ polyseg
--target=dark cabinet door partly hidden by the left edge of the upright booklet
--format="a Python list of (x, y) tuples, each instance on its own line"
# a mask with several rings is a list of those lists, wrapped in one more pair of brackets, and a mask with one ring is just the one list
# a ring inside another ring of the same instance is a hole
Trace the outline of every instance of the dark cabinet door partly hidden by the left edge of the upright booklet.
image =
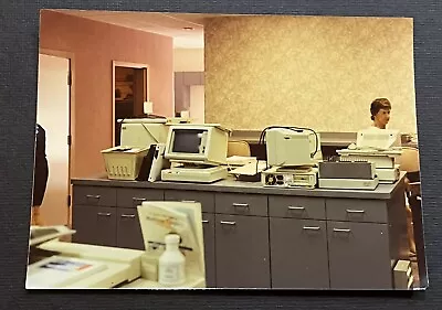
[(138, 212), (134, 207), (119, 207), (117, 210), (117, 246), (145, 249)]

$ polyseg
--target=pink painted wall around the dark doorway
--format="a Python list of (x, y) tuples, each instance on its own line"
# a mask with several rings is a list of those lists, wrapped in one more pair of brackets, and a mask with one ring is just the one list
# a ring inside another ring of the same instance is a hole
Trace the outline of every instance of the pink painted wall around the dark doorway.
[(40, 47), (74, 55), (72, 178), (105, 172), (101, 150), (112, 147), (113, 61), (148, 64), (154, 113), (173, 115), (171, 38), (46, 10), (41, 13)]

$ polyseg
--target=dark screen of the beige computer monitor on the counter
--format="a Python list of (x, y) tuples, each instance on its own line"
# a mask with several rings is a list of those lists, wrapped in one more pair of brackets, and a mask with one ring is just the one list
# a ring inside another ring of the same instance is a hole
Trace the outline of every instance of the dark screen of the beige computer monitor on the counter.
[(201, 152), (201, 138), (203, 137), (204, 132), (207, 132), (207, 130), (198, 130), (198, 129), (175, 130), (172, 152), (199, 154)]

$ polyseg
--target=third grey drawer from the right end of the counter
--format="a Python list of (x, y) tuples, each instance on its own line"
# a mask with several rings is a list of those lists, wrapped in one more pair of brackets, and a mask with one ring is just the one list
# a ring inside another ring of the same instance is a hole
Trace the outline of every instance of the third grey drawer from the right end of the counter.
[(267, 196), (260, 194), (215, 193), (214, 209), (221, 214), (267, 216)]

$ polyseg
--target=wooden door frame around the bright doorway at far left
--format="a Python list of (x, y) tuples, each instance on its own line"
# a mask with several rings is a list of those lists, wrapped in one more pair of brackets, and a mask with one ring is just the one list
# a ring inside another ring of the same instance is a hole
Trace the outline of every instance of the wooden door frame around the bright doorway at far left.
[(69, 61), (69, 103), (67, 103), (67, 218), (66, 225), (72, 227), (72, 184), (71, 179), (74, 174), (74, 153), (75, 153), (75, 55), (72, 52), (50, 50), (50, 49), (39, 49), (39, 54), (56, 56), (61, 58), (66, 58)]

